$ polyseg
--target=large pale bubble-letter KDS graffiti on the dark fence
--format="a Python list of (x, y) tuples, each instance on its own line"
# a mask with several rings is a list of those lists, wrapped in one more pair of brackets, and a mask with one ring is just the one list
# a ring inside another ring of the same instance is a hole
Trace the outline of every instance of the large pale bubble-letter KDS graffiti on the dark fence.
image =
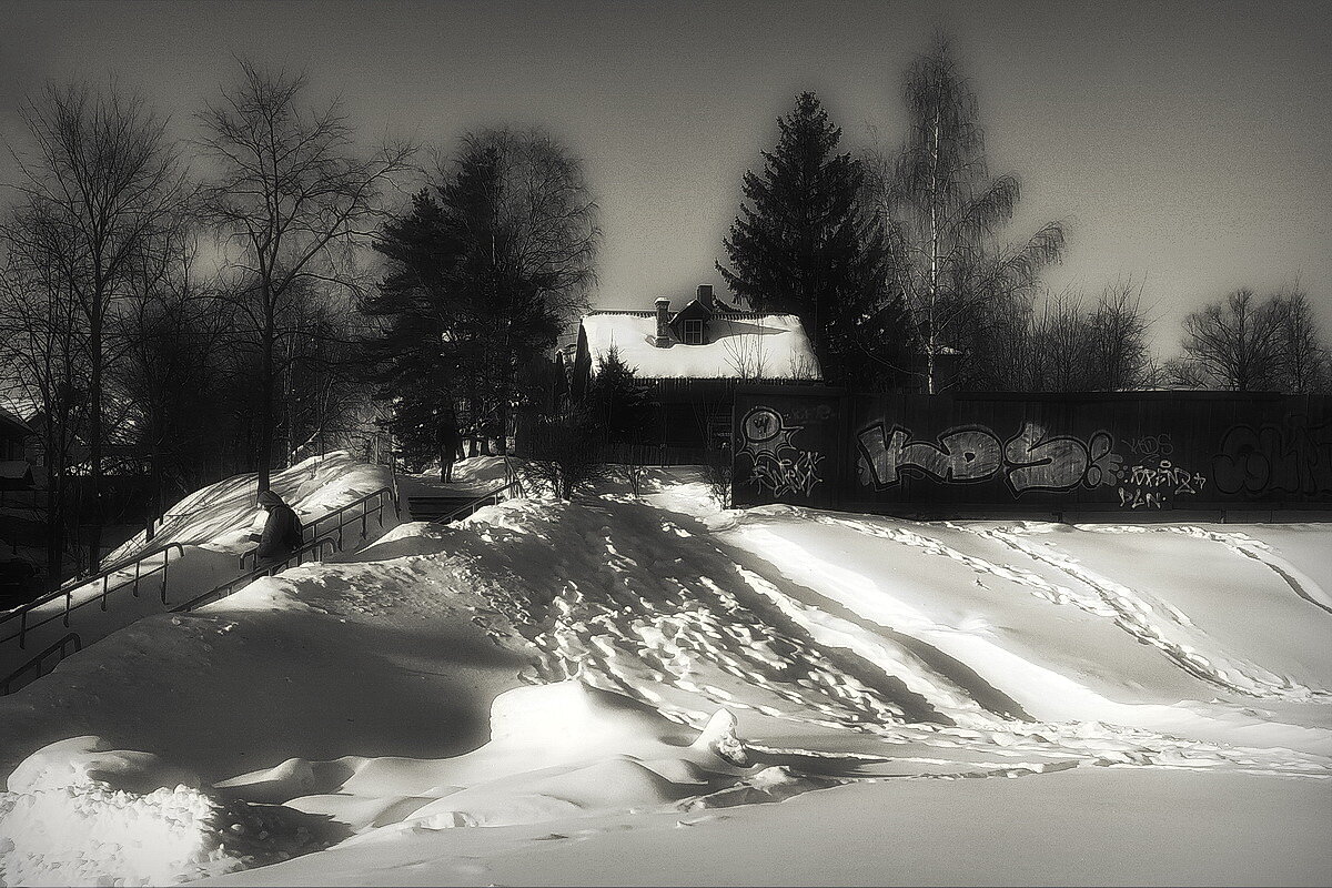
[(1014, 495), (1028, 490), (1072, 490), (1082, 485), (1114, 486), (1123, 475), (1115, 439), (1098, 430), (1083, 441), (1051, 435), (1034, 422), (1002, 442), (986, 426), (956, 426), (935, 441), (912, 441), (911, 430), (875, 422), (856, 435), (859, 478), (883, 490), (900, 483), (903, 471), (944, 483), (971, 483), (1003, 477)]

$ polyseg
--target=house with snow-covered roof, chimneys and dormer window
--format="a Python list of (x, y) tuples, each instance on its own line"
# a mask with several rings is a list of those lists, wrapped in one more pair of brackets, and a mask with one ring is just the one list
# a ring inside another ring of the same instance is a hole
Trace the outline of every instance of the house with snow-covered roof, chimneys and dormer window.
[[(742, 382), (815, 385), (822, 381), (814, 347), (794, 314), (745, 312), (698, 288), (671, 312), (599, 310), (583, 316), (569, 370), (569, 393), (579, 398), (597, 366), (614, 349), (658, 405), (655, 441), (663, 450), (697, 450), (730, 435), (731, 401)], [(557, 355), (557, 362), (565, 358)], [(695, 453), (687, 453), (687, 451)]]

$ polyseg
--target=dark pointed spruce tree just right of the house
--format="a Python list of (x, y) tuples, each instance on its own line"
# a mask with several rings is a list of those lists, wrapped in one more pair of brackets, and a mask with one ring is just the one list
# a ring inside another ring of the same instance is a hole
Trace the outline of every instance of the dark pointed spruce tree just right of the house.
[(745, 202), (725, 240), (730, 268), (717, 270), (754, 310), (799, 316), (825, 379), (868, 385), (863, 358), (884, 343), (858, 326), (878, 317), (880, 335), (892, 335), (898, 324), (879, 317), (892, 301), (883, 233), (858, 202), (860, 164), (836, 153), (842, 130), (814, 93), (777, 125), (762, 174), (745, 174)]

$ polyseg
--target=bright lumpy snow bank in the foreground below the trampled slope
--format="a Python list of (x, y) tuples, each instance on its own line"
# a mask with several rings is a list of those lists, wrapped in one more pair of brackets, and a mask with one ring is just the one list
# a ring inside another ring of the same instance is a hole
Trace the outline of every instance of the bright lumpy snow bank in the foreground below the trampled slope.
[(422, 829), (726, 805), (734, 793), (707, 799), (737, 787), (778, 800), (831, 784), (753, 766), (725, 710), (695, 732), (578, 680), (501, 694), (490, 734), (452, 759), (292, 759), (218, 785), (241, 797), (258, 788), (357, 831), (357, 841), (385, 841)]

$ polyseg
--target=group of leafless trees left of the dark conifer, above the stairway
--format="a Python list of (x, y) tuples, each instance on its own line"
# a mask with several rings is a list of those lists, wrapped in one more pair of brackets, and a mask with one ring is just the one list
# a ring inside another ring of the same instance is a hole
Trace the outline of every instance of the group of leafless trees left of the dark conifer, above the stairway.
[(49, 85), (21, 116), (0, 394), (39, 435), (48, 583), (201, 485), (374, 455), (356, 260), (410, 148), (361, 154), (337, 104), (248, 64), (190, 141), (116, 87)]

